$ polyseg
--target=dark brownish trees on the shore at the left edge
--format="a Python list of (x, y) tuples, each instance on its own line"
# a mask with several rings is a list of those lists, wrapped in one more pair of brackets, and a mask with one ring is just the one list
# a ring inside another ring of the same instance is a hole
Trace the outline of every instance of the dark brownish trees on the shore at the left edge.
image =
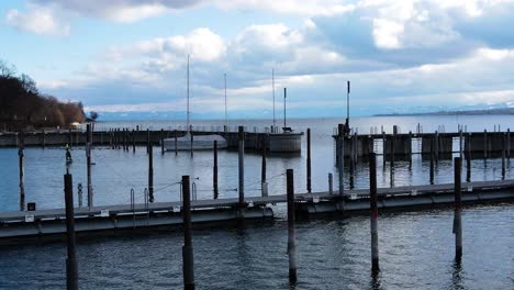
[(27, 75), (0, 60), (0, 130), (68, 127), (86, 121), (81, 102), (60, 102), (42, 94)]

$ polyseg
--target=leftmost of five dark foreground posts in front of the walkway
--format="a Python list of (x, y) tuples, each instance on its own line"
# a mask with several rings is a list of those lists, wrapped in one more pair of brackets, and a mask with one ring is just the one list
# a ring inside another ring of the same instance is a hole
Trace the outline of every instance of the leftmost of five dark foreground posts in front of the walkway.
[(78, 290), (78, 267), (75, 250), (74, 181), (69, 172), (64, 176), (66, 205), (66, 236), (68, 257), (66, 259), (66, 288)]

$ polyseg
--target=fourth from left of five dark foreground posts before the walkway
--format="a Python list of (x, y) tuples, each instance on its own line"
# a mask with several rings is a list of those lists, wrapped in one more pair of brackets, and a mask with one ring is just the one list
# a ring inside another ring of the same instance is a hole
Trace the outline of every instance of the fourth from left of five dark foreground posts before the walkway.
[(377, 156), (369, 156), (369, 207), (371, 209), (371, 272), (379, 271), (378, 207), (377, 207)]

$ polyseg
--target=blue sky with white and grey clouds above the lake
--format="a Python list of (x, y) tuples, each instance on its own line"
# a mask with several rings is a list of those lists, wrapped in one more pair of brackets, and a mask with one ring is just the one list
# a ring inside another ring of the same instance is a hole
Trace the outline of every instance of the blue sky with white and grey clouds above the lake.
[[(0, 59), (105, 115), (271, 118), (514, 103), (514, 0), (0, 2)], [(277, 114), (279, 110), (277, 111)]]

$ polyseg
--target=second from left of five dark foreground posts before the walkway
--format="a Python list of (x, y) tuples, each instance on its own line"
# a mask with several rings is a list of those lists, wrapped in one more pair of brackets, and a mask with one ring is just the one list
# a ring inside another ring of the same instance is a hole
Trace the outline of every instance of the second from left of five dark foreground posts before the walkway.
[(182, 274), (183, 289), (194, 290), (193, 247), (191, 233), (191, 193), (189, 176), (182, 176), (182, 222), (183, 222), (183, 246), (182, 246)]

